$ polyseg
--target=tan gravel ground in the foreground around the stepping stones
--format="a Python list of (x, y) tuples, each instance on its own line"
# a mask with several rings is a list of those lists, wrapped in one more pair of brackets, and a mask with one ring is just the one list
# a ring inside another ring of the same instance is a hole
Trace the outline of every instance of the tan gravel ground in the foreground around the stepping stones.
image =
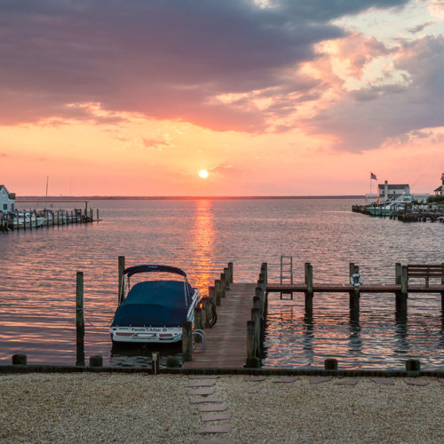
[[(327, 379), (2, 374), (0, 441), (443, 442), (442, 379)], [(210, 402), (190, 394), (200, 381)], [(227, 419), (202, 421), (220, 412), (200, 406), (221, 406)], [(222, 424), (231, 432), (199, 433)]]

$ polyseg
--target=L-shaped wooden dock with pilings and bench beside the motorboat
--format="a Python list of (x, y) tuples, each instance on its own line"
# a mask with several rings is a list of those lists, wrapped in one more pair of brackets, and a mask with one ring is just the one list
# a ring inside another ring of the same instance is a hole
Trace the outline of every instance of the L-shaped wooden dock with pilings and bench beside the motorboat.
[[(194, 344), (191, 335), (192, 324), (184, 327), (183, 337), (188, 335), (184, 351), (184, 369), (243, 369), (258, 368), (264, 357), (263, 341), (265, 337), (265, 318), (268, 293), (303, 293), (305, 295), (305, 312), (313, 313), (313, 297), (316, 293), (348, 293), (350, 297), (350, 315), (359, 319), (360, 298), (365, 293), (393, 294), (396, 300), (397, 315), (407, 316), (408, 293), (437, 293), (441, 296), (441, 307), (444, 313), (444, 264), (395, 266), (395, 282), (385, 284), (364, 284), (359, 274), (359, 266), (349, 264), (350, 283), (315, 283), (313, 266), (305, 263), (305, 282), (277, 283), (267, 279), (267, 265), (262, 264), (258, 282), (233, 283), (233, 264), (231, 271), (224, 268), (220, 280), (210, 287), (210, 297), (216, 301), (218, 321), (212, 328), (206, 328), (206, 346)], [(422, 278), (424, 284), (409, 283), (408, 279)], [(430, 283), (434, 279), (440, 283)], [(353, 284), (352, 284), (353, 281)], [(227, 288), (227, 286), (229, 288)], [(202, 319), (196, 308), (194, 321)], [(202, 321), (194, 329), (202, 330)], [(184, 324), (184, 325), (185, 325)], [(188, 333), (186, 333), (188, 331)]]

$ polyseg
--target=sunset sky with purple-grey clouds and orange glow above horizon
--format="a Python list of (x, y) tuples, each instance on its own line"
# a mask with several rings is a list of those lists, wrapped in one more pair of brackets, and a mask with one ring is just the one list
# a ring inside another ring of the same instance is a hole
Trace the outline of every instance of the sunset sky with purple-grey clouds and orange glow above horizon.
[(443, 68), (444, 0), (0, 0), (0, 184), (432, 194)]

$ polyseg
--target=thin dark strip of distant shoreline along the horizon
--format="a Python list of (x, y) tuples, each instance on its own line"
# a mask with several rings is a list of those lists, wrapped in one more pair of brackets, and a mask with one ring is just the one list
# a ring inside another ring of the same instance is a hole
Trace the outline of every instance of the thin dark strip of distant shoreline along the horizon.
[(33, 201), (193, 201), (193, 200), (278, 200), (278, 199), (364, 199), (364, 195), (250, 195), (250, 196), (20, 196), (21, 200)]

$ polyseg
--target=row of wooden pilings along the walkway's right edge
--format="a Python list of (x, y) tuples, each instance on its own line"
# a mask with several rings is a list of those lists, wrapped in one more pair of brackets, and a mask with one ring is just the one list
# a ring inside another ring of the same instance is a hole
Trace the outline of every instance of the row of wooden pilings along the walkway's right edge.
[(255, 296), (251, 297), (251, 319), (247, 321), (247, 360), (245, 367), (254, 369), (261, 366), (264, 358), (264, 337), (266, 330), (268, 266), (264, 262), (260, 269)]

